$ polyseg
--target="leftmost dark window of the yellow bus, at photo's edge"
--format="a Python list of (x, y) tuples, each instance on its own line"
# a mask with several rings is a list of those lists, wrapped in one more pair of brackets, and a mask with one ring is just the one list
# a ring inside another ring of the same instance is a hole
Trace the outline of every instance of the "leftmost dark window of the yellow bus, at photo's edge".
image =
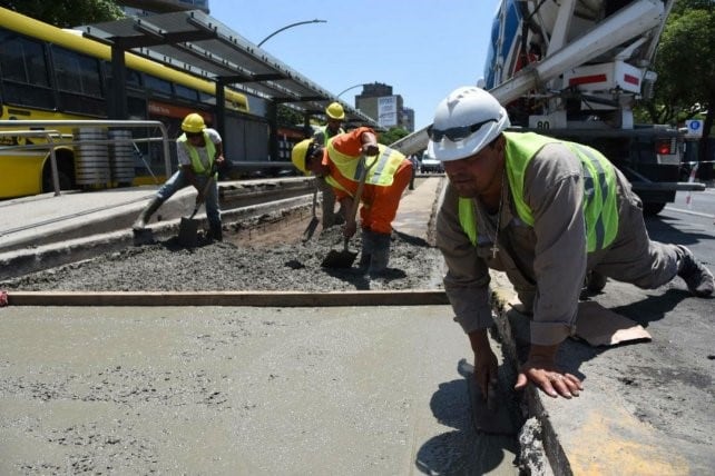
[(0, 71), (4, 101), (55, 109), (42, 43), (0, 30)]

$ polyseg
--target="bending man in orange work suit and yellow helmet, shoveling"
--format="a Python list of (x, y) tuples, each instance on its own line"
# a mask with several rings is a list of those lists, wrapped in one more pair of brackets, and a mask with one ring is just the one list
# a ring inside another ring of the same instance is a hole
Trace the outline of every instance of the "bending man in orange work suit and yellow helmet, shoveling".
[[(364, 160), (361, 158), (364, 157)], [(362, 254), (360, 267), (371, 276), (382, 274), (390, 260), (392, 221), (398, 214), (400, 198), (412, 176), (412, 165), (399, 151), (378, 143), (375, 132), (366, 127), (341, 133), (326, 146), (313, 139), (298, 142), (291, 155), (302, 172), (322, 176), (333, 188), (345, 210), (346, 238), (355, 235), (358, 225), (353, 199), (358, 192), (364, 167), (368, 167), (360, 208)]]

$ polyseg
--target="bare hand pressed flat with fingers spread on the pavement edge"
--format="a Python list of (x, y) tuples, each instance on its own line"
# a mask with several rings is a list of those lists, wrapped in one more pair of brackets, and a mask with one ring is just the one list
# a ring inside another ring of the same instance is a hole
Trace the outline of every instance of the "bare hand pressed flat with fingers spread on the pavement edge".
[(529, 358), (519, 370), (515, 389), (525, 388), (530, 380), (550, 397), (557, 398), (559, 395), (564, 398), (578, 397), (578, 393), (584, 389), (581, 380), (557, 368), (556, 351), (558, 348), (558, 345), (537, 346), (532, 344)]

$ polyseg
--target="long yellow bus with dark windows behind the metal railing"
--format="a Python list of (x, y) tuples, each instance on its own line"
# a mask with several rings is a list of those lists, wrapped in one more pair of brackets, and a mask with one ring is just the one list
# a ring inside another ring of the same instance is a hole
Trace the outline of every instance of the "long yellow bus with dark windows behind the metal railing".
[[(0, 120), (108, 118), (112, 99), (108, 46), (4, 8), (0, 8)], [(213, 81), (129, 52), (125, 53), (125, 119), (160, 120), (169, 138), (178, 136), (180, 120), (188, 112), (199, 112), (207, 123), (215, 123)], [(245, 95), (232, 89), (226, 89), (225, 95), (227, 117), (248, 113)], [(0, 199), (53, 190), (49, 149), (14, 147), (29, 140), (45, 143), (43, 139), (0, 135)], [(145, 150), (149, 152), (148, 147)], [(147, 156), (147, 168), (137, 163), (134, 185), (151, 181), (151, 163), (164, 170), (160, 158)], [(58, 147), (56, 157), (60, 188), (77, 188), (75, 150)]]

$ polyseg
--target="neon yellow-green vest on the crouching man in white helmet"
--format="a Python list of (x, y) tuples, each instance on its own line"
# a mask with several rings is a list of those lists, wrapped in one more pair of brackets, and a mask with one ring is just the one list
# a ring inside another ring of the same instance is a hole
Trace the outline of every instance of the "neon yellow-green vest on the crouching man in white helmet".
[[(533, 132), (503, 132), (507, 138), (506, 167), (511, 197), (517, 215), (533, 227), (533, 214), (523, 199), (523, 180), (529, 162), (547, 143), (562, 143), (581, 162), (584, 176), (584, 217), (586, 220), (586, 250), (604, 249), (616, 239), (618, 232), (618, 207), (616, 202), (616, 171), (603, 153), (590, 147), (552, 139)], [(477, 245), (474, 202), (471, 198), (459, 199), (459, 221), (472, 245)], [(498, 231), (498, 230), (497, 230)]]

